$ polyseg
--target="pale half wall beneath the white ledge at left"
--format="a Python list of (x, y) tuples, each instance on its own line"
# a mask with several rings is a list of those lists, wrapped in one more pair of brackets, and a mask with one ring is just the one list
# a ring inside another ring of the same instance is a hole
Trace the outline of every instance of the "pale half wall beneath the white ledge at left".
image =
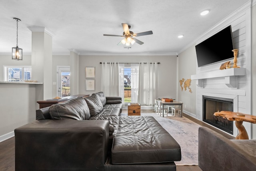
[(0, 141), (11, 137), (15, 128), (36, 119), (36, 86), (0, 83)]

